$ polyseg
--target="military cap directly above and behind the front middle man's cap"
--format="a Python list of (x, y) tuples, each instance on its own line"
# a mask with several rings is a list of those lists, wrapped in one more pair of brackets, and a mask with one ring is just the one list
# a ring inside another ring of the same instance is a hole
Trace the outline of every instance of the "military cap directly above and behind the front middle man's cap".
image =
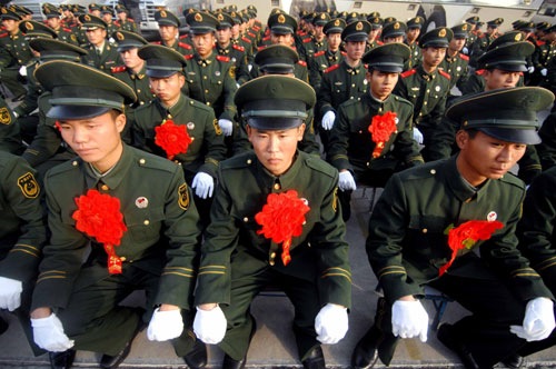
[(255, 54), (260, 71), (270, 74), (292, 73), (298, 61), (297, 51), (284, 44), (270, 44)]

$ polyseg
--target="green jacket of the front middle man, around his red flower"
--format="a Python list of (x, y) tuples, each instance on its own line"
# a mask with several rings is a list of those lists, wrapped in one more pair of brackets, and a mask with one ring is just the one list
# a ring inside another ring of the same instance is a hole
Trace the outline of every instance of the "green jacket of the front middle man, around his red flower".
[[(244, 266), (256, 272), (276, 268), (282, 273), (318, 285), (320, 302), (350, 307), (351, 273), (346, 226), (338, 208), (338, 172), (320, 159), (298, 152), (280, 177), (271, 176), (254, 152), (221, 163), (210, 219), (201, 248), (196, 305), (229, 303), (234, 258), (241, 253)], [(291, 261), (284, 266), (281, 245), (257, 231), (255, 216), (269, 193), (296, 190), (310, 208), (302, 233), (291, 240)]]

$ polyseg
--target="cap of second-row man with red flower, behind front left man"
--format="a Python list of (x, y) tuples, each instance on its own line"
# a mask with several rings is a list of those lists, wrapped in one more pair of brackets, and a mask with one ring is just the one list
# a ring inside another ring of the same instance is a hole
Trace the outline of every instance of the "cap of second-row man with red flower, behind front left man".
[(147, 62), (147, 76), (153, 78), (168, 78), (181, 73), (187, 64), (181, 53), (161, 44), (146, 44), (137, 54)]

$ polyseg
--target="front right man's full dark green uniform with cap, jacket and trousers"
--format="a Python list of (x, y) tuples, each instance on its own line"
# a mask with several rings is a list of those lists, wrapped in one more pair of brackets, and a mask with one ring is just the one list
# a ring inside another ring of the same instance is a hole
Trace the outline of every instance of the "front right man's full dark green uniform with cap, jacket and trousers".
[[(522, 107), (518, 101), (523, 99), (530, 103)], [(467, 129), (532, 143), (536, 112), (552, 99), (538, 89), (489, 91), (454, 104), (447, 114)], [(512, 117), (515, 126), (503, 117)], [(438, 333), (443, 343), (466, 359), (468, 368), (492, 368), (523, 348), (526, 341), (510, 332), (509, 325), (523, 322), (528, 300), (554, 299), (517, 249), (515, 228), (522, 216), (524, 183), (507, 173), (473, 187), (459, 172), (457, 160), (394, 174), (373, 211), (366, 248), (385, 299), (379, 300), (375, 326), (356, 348), (356, 368), (364, 367), (376, 350), (389, 365), (398, 341), (391, 332), (391, 306), (401, 297), (423, 298), (426, 285), (471, 311), (455, 325), (440, 327)], [(447, 230), (476, 220), (496, 220), (503, 228), (493, 230), (488, 240), (458, 249), (454, 263), (440, 273), (453, 253)], [(474, 252), (477, 248), (480, 257)]]

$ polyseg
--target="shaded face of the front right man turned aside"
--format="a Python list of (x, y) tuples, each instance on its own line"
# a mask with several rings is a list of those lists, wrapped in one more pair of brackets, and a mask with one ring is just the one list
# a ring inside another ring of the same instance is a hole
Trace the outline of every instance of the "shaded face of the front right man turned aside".
[(471, 184), (478, 186), (486, 179), (499, 179), (522, 159), (527, 148), (523, 143), (502, 141), (478, 131), (474, 138), (460, 130), (456, 134), (459, 149), (457, 168)]

